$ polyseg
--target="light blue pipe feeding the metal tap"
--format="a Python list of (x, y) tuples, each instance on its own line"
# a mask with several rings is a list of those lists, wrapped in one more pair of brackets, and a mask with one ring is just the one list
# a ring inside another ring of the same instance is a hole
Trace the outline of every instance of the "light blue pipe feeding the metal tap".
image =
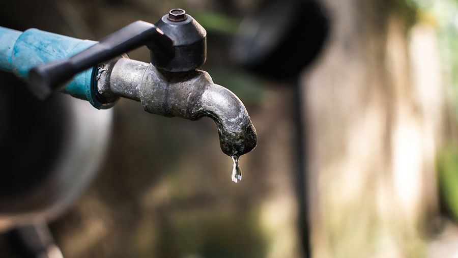
[[(26, 81), (33, 67), (58, 59), (68, 58), (96, 44), (96, 41), (75, 39), (31, 28), (19, 32), (0, 26), (0, 70), (14, 73)], [(73, 97), (87, 100), (100, 109), (102, 104), (94, 97), (96, 68), (77, 74), (61, 90)]]

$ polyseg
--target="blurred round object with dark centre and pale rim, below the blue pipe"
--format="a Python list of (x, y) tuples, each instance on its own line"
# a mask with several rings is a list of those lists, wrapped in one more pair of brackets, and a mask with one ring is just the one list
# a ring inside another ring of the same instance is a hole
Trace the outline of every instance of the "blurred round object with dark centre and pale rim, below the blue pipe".
[(111, 112), (62, 94), (39, 101), (0, 74), (0, 232), (55, 218), (94, 178)]

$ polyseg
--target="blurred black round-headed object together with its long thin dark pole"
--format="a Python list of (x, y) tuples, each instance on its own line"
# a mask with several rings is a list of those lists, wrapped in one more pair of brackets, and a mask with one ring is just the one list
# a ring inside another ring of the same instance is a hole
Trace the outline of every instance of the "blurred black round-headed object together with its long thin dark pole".
[(310, 257), (308, 226), (305, 128), (300, 73), (319, 55), (329, 30), (322, 6), (316, 1), (269, 1), (256, 15), (245, 18), (233, 45), (240, 66), (294, 86), (296, 192), (299, 203), (299, 233), (305, 257)]

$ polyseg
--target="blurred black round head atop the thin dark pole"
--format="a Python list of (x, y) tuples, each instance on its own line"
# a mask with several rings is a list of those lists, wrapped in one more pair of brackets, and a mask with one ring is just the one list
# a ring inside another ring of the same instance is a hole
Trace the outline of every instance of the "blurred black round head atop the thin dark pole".
[(320, 53), (328, 19), (313, 0), (268, 1), (240, 24), (234, 61), (274, 79), (296, 77)]

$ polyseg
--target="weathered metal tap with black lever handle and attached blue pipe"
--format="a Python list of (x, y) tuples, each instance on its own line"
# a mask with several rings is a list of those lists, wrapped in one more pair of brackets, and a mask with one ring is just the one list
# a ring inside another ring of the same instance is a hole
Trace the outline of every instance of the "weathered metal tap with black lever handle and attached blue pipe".
[[(0, 27), (0, 70), (26, 80), (41, 99), (63, 92), (104, 109), (122, 97), (165, 117), (209, 117), (222, 152), (238, 159), (256, 147), (256, 130), (240, 99), (198, 69), (206, 61), (206, 35), (182, 9), (154, 25), (131, 23), (100, 42)], [(149, 64), (125, 54), (144, 45)]]

